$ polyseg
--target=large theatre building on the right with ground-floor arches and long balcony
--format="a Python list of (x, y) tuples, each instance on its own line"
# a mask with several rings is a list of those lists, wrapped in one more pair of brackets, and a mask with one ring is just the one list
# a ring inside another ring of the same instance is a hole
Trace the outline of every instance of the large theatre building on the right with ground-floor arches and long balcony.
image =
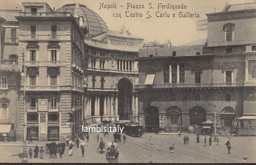
[(256, 134), (255, 20), (255, 3), (227, 5), (207, 14), (207, 40), (139, 50), (139, 124), (199, 131), (216, 112), (217, 131)]

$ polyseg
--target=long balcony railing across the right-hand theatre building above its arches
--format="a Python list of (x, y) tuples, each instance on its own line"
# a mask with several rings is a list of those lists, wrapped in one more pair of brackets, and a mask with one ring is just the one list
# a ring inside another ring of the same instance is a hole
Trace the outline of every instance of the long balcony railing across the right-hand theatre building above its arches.
[(144, 88), (218, 88), (218, 87), (243, 87), (243, 86), (256, 86), (256, 82), (135, 85), (135, 89), (144, 89)]

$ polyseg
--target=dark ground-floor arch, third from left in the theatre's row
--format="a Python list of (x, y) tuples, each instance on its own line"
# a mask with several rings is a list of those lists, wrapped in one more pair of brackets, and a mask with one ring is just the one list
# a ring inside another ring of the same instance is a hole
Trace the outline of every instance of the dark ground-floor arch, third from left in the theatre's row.
[(206, 111), (204, 108), (196, 106), (189, 111), (190, 126), (195, 129), (195, 133), (201, 133), (201, 123), (206, 121)]

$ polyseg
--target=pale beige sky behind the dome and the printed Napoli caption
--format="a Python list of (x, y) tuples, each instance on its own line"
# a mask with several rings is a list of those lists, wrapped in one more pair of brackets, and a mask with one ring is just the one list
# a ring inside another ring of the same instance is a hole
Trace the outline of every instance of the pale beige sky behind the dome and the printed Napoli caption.
[[(226, 3), (253, 3), (256, 0), (16, 0), (16, 2), (20, 6), (22, 2), (46, 2), (52, 9), (70, 3), (83, 4), (101, 16), (109, 30), (120, 31), (122, 26), (125, 26), (132, 36), (143, 38), (144, 42), (167, 43), (167, 40), (170, 40), (172, 46), (179, 46), (207, 38), (207, 31), (196, 31), (196, 21), (207, 19), (205, 14), (221, 12)], [(167, 9), (168, 4), (169, 7), (180, 6), (183, 9)], [(110, 8), (102, 8), (105, 5), (106, 7), (109, 5)], [(131, 17), (130, 14), (132, 16), (134, 14), (135, 17)], [(192, 15), (194, 17), (187, 17), (187, 14), (194, 14)], [(114, 17), (116, 15), (119, 17)]]

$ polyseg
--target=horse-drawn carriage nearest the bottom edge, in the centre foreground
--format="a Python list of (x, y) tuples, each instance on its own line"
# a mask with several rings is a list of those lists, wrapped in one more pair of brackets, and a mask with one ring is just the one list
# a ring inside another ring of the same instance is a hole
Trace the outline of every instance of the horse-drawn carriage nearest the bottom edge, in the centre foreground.
[(118, 151), (118, 146), (115, 143), (111, 143), (109, 142), (106, 145), (106, 159), (109, 162), (113, 162), (113, 161), (118, 161), (118, 155), (119, 155), (119, 151)]

